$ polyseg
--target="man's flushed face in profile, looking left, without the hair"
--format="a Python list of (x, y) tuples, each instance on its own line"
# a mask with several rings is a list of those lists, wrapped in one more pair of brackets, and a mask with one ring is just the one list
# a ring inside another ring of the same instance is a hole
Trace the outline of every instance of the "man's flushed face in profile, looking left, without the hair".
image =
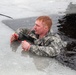
[(37, 20), (34, 26), (35, 34), (41, 35), (44, 33), (44, 26), (42, 21)]

